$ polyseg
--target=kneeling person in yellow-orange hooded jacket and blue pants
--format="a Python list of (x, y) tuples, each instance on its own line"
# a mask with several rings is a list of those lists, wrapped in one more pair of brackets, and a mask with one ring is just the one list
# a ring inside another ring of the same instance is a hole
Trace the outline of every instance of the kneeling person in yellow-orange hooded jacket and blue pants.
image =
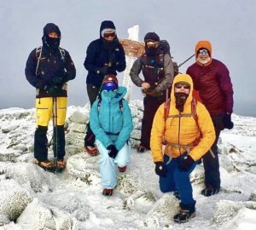
[[(150, 147), (160, 190), (175, 192), (180, 211), (173, 216), (182, 223), (195, 216), (195, 199), (190, 173), (215, 140), (212, 119), (205, 106), (192, 97), (193, 82), (188, 74), (178, 74), (172, 84), (169, 111), (162, 104), (154, 116)], [(166, 142), (162, 154), (162, 141)]]

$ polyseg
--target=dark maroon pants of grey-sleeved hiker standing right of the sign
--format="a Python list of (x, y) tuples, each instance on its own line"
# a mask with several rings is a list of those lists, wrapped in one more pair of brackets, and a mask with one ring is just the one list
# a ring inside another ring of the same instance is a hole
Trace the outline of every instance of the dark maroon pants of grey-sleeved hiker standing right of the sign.
[(141, 132), (141, 145), (150, 149), (150, 133), (154, 120), (154, 114), (159, 106), (164, 103), (166, 99), (164, 97), (153, 97), (146, 95), (143, 99), (144, 112), (143, 123)]

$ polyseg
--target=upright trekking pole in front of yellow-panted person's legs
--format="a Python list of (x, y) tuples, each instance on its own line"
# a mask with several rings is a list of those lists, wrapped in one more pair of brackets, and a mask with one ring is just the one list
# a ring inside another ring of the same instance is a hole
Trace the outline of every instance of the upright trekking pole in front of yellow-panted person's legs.
[(53, 112), (53, 151), (54, 151), (54, 166), (55, 166), (55, 170), (57, 169), (57, 159), (58, 159), (58, 129), (57, 129), (57, 121), (58, 121), (58, 106), (57, 106), (57, 97), (54, 96), (52, 98), (53, 101), (53, 105), (52, 105), (52, 112)]

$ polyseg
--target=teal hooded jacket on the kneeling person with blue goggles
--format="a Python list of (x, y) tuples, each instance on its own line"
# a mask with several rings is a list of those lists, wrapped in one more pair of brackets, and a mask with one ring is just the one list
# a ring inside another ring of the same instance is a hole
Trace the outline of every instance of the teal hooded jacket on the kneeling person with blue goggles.
[(130, 138), (133, 124), (130, 107), (124, 100), (126, 92), (123, 86), (116, 92), (102, 91), (100, 106), (97, 99), (90, 109), (90, 128), (106, 148), (114, 145), (120, 150)]

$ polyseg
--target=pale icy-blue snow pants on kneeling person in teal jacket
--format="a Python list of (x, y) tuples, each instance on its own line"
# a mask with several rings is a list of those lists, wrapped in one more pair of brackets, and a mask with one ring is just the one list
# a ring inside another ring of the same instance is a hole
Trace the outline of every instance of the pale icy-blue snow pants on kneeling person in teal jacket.
[(96, 140), (96, 146), (100, 152), (100, 170), (102, 176), (103, 188), (114, 188), (117, 183), (117, 173), (119, 167), (124, 167), (130, 162), (131, 158), (131, 146), (125, 143), (125, 146), (119, 150), (116, 158), (110, 158), (108, 156), (108, 149), (103, 146), (102, 142)]

